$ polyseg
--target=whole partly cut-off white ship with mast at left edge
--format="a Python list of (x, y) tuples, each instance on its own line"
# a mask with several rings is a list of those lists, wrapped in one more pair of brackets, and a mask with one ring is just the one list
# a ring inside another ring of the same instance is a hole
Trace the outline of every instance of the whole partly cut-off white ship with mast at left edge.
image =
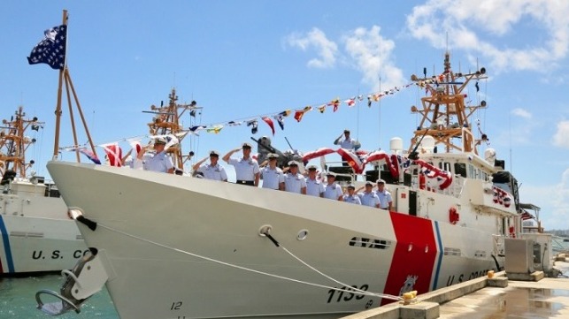
[(19, 107), (0, 126), (0, 277), (69, 269), (88, 251), (57, 186), (26, 159), (43, 125)]

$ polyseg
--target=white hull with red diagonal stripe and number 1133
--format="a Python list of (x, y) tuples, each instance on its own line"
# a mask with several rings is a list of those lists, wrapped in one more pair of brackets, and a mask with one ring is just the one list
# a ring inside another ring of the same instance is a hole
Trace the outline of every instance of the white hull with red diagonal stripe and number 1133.
[[(390, 300), (332, 287), (398, 296), (496, 270), (495, 216), (464, 217), (485, 227), (455, 225), (151, 171), (60, 162), (48, 169), (67, 206), (97, 223), (95, 231), (78, 224), (99, 250), (122, 319), (338, 317)], [(441, 201), (431, 216), (451, 204)], [(259, 235), (267, 226), (281, 247)]]

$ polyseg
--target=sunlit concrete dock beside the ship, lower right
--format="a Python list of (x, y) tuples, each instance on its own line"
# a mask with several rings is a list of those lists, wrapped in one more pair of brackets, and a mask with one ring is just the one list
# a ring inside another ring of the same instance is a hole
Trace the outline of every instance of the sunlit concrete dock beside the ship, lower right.
[(510, 280), (504, 271), (417, 296), (410, 305), (392, 303), (343, 319), (407, 318), (569, 318), (569, 261), (557, 259), (565, 277), (534, 273), (530, 280)]

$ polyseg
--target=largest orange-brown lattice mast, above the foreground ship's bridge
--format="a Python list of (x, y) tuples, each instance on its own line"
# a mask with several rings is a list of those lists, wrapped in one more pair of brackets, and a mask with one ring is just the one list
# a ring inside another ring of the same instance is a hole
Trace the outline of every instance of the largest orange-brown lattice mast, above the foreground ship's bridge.
[(411, 138), (410, 152), (424, 136), (434, 139), (434, 146), (442, 144), (447, 153), (452, 151), (473, 152), (478, 154), (477, 145), (486, 139), (482, 134), (481, 140), (474, 139), (473, 127), (469, 118), (481, 108), (486, 108), (486, 102), (480, 105), (465, 105), (465, 87), (471, 80), (487, 79), (484, 75), (485, 68), (462, 74), (455, 73), (450, 67), (450, 53), (444, 55), (444, 71), (438, 76), (427, 78), (427, 70), (424, 70), (424, 78), (419, 79), (415, 74), (411, 80), (419, 87), (424, 87), (427, 96), (421, 98), (422, 109), (411, 106), (411, 112), (419, 113), (422, 118), (414, 136)]

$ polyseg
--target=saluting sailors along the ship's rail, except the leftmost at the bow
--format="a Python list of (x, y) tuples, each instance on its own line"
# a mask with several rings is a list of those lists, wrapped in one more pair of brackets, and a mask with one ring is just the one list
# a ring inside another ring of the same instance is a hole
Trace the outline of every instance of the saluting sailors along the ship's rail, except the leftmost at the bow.
[[(242, 157), (232, 158), (231, 156), (242, 150)], [(229, 151), (223, 160), (235, 167), (236, 183), (248, 186), (258, 186), (259, 178), (262, 176), (263, 188), (287, 191), (296, 194), (308, 194), (319, 196), (337, 201), (347, 201), (365, 206), (392, 209), (392, 198), (388, 190), (385, 189), (385, 181), (377, 181), (378, 190), (373, 191), (373, 183), (366, 182), (364, 192), (357, 192), (355, 186), (347, 186), (347, 194), (343, 194), (342, 186), (335, 182), (334, 172), (327, 173), (327, 184), (325, 185), (317, 178), (317, 167), (310, 165), (307, 167), (308, 177), (298, 172), (296, 161), (288, 162), (288, 168), (284, 171), (277, 167), (277, 154), (269, 154), (267, 161), (260, 166), (258, 162), (250, 156), (251, 145), (243, 143), (242, 147)], [(219, 165), (219, 153), (211, 151), (209, 155), (210, 163), (203, 164), (208, 157), (197, 162), (193, 169), (204, 176), (204, 178), (227, 181), (227, 173), (223, 166)]]

